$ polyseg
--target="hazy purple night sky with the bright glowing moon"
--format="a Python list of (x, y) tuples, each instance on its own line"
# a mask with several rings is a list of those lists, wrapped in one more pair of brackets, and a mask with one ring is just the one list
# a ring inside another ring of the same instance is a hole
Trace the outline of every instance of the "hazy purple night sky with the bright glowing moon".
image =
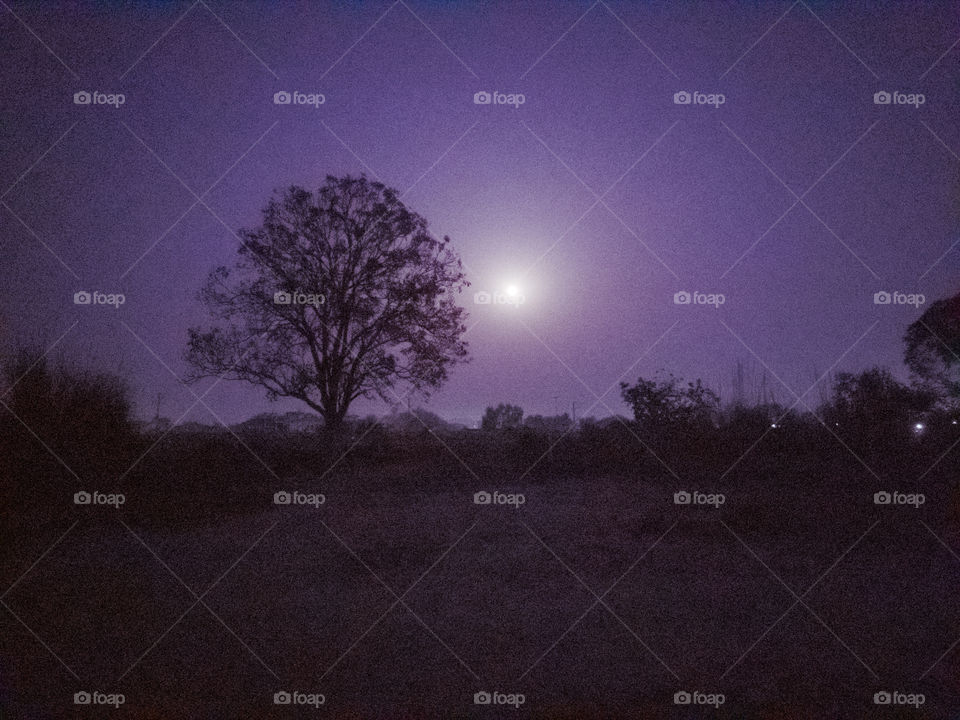
[[(958, 36), (955, 2), (0, 3), (0, 341), (66, 332), (53, 356), (178, 418), (195, 398), (160, 360), (185, 372), (231, 230), (275, 188), (365, 172), (452, 238), (473, 283), (473, 360), (427, 405), (445, 417), (596, 396), (589, 414), (624, 412), (616, 383), (658, 368), (729, 397), (737, 360), (787, 404), (773, 374), (802, 393), (838, 360), (902, 373), (923, 307), (873, 294), (960, 289)], [(474, 304), (511, 282), (523, 305)], [(74, 305), (84, 289), (126, 303)], [(234, 382), (204, 402), (227, 422), (301, 409)]]

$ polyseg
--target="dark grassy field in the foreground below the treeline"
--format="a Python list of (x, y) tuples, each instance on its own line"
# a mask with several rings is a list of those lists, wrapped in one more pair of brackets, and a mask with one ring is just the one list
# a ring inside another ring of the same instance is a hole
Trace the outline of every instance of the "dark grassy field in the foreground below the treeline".
[[(74, 505), (83, 478), (25, 458), (39, 469), (4, 503), (0, 715), (960, 716), (952, 440), (857, 459), (826, 434), (768, 436), (724, 474), (756, 438), (658, 460), (621, 437), (524, 475), (529, 439), (374, 433), (336, 462), (354, 439), (164, 441), (122, 480), (87, 480), (121, 509)], [(280, 490), (325, 502), (275, 505)], [(483, 490), (525, 502), (477, 505)], [(875, 504), (894, 490), (924, 502)], [(885, 691), (924, 702), (875, 704)]]

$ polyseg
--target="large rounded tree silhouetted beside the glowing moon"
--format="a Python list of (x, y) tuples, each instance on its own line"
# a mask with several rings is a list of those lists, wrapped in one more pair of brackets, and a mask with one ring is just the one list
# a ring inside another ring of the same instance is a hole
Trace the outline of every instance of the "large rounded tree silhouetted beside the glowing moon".
[(426, 394), (466, 360), (460, 258), (383, 184), (292, 186), (241, 238), (200, 293), (215, 323), (189, 331), (191, 379), (244, 380), (336, 427), (357, 398), (395, 401), (397, 383)]

